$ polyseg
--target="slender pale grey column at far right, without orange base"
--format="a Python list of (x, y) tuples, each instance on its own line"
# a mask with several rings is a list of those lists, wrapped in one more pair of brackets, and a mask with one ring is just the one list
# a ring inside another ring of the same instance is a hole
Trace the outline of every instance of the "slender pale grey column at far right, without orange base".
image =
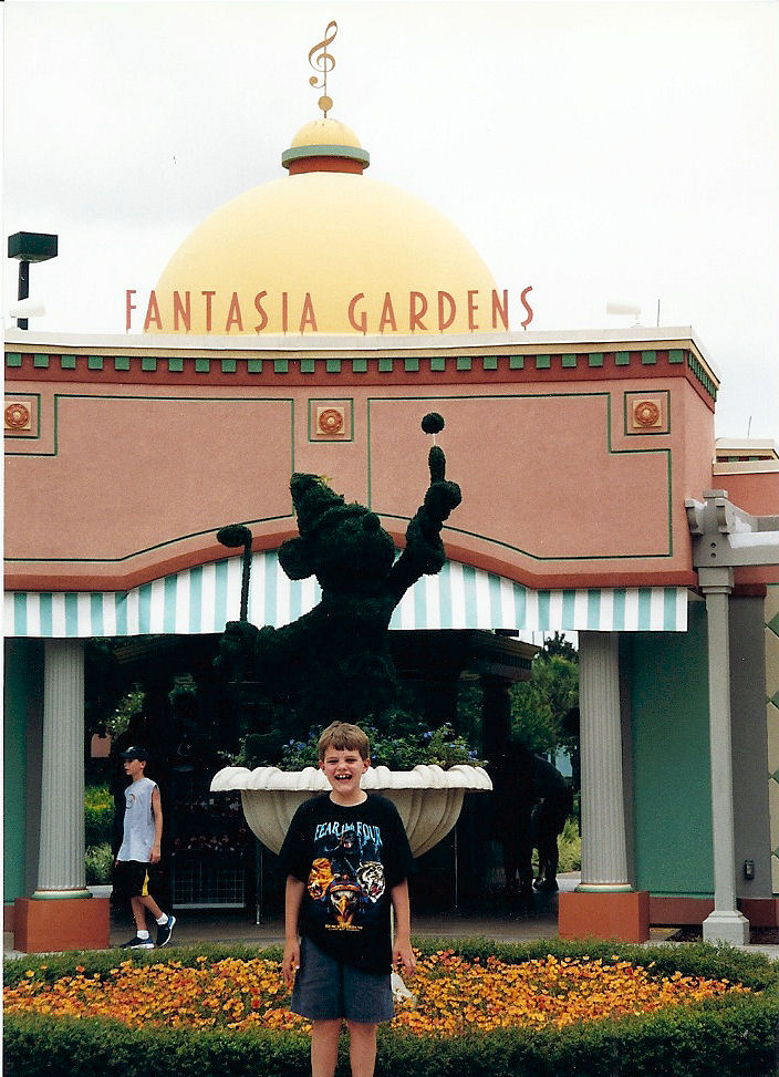
[(706, 942), (749, 942), (749, 921), (736, 907), (733, 755), (730, 749), (730, 638), (728, 609), (733, 569), (702, 568), (708, 634), (708, 738), (712, 760), (714, 912), (704, 920)]

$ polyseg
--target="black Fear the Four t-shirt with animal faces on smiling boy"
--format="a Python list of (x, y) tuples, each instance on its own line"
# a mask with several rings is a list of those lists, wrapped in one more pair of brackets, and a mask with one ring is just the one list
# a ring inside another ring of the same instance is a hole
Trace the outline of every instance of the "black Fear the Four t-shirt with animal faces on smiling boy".
[(412, 867), (395, 805), (374, 794), (350, 807), (313, 797), (295, 811), (279, 856), (284, 873), (305, 883), (301, 935), (344, 964), (390, 972), (390, 893)]

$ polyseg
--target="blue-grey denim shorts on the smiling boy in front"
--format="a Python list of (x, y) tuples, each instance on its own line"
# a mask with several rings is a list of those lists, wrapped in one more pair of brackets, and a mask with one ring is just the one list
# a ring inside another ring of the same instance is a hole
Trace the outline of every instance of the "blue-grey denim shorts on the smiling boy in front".
[(310, 1021), (392, 1021), (395, 1007), (390, 973), (344, 965), (303, 936), (290, 1009)]

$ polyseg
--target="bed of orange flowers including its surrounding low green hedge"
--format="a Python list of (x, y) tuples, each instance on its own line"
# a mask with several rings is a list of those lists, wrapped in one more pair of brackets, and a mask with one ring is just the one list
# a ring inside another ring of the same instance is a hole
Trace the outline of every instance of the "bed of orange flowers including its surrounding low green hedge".
[[(559, 941), (423, 950), (407, 981), (416, 1005), (382, 1028), (377, 1077), (773, 1071), (778, 975), (761, 955)], [(308, 1026), (288, 1012), (278, 952), (118, 957), (7, 965), (8, 1071), (309, 1073)], [(214, 1069), (226, 1052), (229, 1066)]]

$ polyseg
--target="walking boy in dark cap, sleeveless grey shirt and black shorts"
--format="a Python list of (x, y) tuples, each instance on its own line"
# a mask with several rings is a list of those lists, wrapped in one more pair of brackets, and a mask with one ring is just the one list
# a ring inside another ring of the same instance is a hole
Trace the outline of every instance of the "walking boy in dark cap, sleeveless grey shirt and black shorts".
[(149, 894), (149, 869), (159, 863), (163, 840), (163, 809), (156, 781), (145, 775), (148, 753), (139, 745), (133, 745), (122, 753), (124, 771), (132, 778), (125, 790), (124, 836), (114, 864), (116, 889), (129, 898), (135, 918), (136, 932), (133, 939), (123, 943), (123, 949), (152, 950), (146, 928), (146, 910), (157, 921), (157, 945), (165, 946), (176, 918), (164, 913)]

